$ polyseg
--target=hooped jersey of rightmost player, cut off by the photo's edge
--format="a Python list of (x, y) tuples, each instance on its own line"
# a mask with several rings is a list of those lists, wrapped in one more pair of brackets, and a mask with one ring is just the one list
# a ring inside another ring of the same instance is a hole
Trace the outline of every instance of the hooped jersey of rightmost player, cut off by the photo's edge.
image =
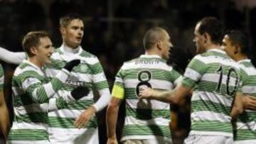
[[(242, 74), (242, 93), (244, 96), (250, 95), (256, 97), (256, 68), (248, 59), (240, 60), (238, 62)], [(238, 116), (236, 123), (235, 140), (245, 140), (252, 143), (256, 142), (256, 111), (245, 109), (245, 111)]]

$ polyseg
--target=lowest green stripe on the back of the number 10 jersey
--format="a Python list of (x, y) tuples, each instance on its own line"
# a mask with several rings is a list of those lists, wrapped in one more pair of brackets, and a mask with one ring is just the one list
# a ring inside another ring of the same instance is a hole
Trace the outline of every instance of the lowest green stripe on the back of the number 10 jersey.
[(233, 133), (230, 122), (223, 123), (220, 121), (192, 121), (191, 128), (193, 131), (217, 131)]

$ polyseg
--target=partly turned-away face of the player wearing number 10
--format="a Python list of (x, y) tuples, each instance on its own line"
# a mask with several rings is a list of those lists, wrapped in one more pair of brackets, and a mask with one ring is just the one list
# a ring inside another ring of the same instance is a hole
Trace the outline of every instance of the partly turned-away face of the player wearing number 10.
[(203, 35), (199, 33), (200, 25), (201, 25), (200, 23), (196, 25), (196, 28), (194, 31), (194, 38), (193, 38), (193, 42), (196, 43), (196, 53), (198, 54), (203, 53), (206, 50), (204, 45), (205, 38), (203, 37)]

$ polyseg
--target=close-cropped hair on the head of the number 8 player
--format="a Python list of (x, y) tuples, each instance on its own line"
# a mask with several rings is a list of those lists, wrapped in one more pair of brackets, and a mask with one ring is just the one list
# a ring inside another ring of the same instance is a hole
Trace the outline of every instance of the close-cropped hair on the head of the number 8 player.
[(145, 50), (149, 50), (157, 42), (157, 40), (164, 40), (166, 36), (169, 36), (164, 28), (156, 27), (151, 28), (146, 32), (143, 38), (143, 45)]

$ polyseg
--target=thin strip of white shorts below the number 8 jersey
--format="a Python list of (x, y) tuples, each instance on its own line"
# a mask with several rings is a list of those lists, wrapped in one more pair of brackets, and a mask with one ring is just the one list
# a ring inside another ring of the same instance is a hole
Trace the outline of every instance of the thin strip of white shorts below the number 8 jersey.
[(171, 144), (164, 140), (124, 140), (123, 144)]

